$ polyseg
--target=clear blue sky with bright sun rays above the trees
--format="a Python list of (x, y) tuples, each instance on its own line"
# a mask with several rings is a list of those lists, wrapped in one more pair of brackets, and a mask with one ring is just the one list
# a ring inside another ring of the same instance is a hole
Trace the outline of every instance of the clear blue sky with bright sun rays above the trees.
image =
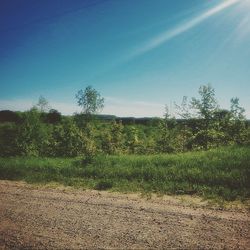
[(0, 110), (73, 114), (91, 85), (103, 114), (162, 116), (208, 83), (250, 118), (250, 0), (0, 1)]

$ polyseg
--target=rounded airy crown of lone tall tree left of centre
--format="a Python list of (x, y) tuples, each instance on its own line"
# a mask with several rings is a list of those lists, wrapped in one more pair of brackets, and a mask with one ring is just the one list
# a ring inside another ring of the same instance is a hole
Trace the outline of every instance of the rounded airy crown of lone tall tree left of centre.
[(84, 91), (82, 89), (79, 90), (76, 94), (76, 99), (78, 106), (82, 108), (87, 118), (98, 113), (104, 107), (104, 98), (91, 86), (87, 86)]

